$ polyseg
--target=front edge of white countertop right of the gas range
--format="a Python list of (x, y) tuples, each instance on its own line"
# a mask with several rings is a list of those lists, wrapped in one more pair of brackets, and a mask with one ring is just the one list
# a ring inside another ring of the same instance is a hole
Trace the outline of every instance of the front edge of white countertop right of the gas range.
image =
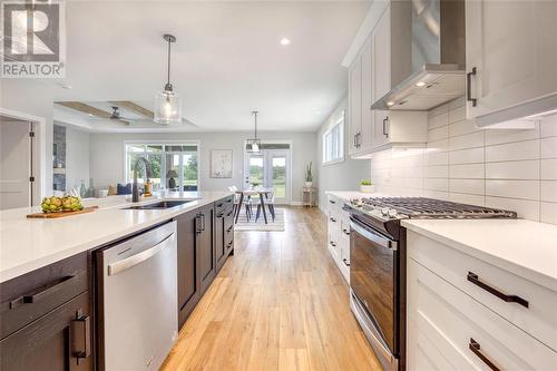
[(510, 262), (510, 261), (508, 261), (499, 255), (489, 254), (488, 252), (478, 250), (475, 246), (471, 246), (469, 244), (465, 244), (465, 243), (461, 243), (459, 241), (446, 237), (439, 233), (436, 233), (436, 232), (432, 232), (430, 230), (423, 228), (419, 225), (416, 225), (411, 221), (402, 221), (401, 224), (407, 230), (410, 230), (414, 233), (427, 236), (431, 240), (434, 240), (439, 243), (442, 243), (443, 245), (456, 248), (456, 250), (458, 250), (462, 253), (466, 253), (468, 255), (471, 255), (473, 257), (486, 261), (492, 265), (497, 265), (497, 266), (499, 266), (506, 271), (509, 271), (516, 275), (519, 275), (528, 281), (544, 285), (544, 286), (548, 287), (549, 290), (557, 292), (557, 280), (550, 275), (547, 275), (547, 274), (541, 273), (539, 271), (536, 271), (536, 270), (529, 269), (527, 266), (517, 264), (515, 262)]

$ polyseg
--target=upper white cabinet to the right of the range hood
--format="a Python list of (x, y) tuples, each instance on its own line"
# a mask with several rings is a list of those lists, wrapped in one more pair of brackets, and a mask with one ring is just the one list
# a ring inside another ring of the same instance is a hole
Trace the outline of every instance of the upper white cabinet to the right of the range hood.
[(467, 1), (467, 118), (488, 126), (557, 108), (556, 35), (557, 1)]

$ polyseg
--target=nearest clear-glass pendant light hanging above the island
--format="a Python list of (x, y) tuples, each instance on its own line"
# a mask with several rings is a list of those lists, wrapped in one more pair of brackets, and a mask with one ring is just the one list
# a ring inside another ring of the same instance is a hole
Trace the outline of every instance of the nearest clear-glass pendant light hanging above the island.
[(168, 42), (168, 79), (164, 90), (155, 95), (154, 120), (160, 125), (178, 125), (182, 124), (182, 98), (170, 84), (170, 45), (176, 42), (176, 38), (165, 35), (163, 39)]

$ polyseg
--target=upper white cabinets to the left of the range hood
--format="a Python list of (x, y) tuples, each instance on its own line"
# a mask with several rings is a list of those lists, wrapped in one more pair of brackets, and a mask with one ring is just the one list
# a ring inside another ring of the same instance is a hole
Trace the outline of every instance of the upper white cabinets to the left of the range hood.
[(378, 9), (378, 21), (349, 68), (349, 154), (353, 157), (426, 144), (426, 113), (371, 110), (373, 101), (410, 72), (410, 33), (404, 26), (410, 25), (404, 21), (409, 4), (394, 1)]

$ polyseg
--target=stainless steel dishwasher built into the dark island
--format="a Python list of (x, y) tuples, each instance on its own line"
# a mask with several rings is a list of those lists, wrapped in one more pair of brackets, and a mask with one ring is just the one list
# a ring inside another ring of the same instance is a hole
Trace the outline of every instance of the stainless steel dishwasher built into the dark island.
[(97, 255), (99, 365), (158, 370), (178, 333), (176, 222)]

